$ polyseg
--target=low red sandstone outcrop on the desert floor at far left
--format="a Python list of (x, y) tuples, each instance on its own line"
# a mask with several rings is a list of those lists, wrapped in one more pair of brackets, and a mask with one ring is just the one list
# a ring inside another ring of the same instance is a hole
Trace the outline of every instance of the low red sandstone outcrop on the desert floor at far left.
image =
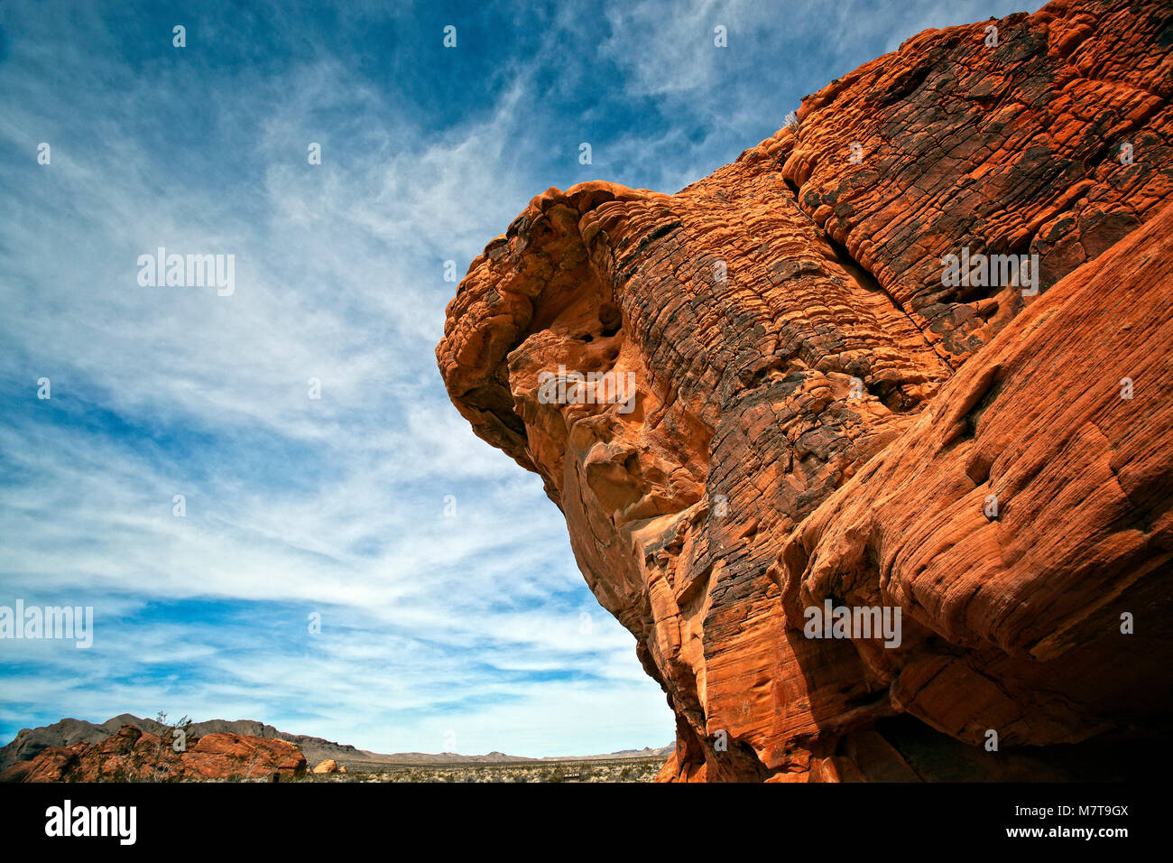
[(176, 753), (134, 726), (100, 743), (48, 747), (32, 761), (0, 774), (0, 782), (174, 782), (270, 778), (305, 771), (306, 761), (292, 743), (240, 734), (206, 734)]

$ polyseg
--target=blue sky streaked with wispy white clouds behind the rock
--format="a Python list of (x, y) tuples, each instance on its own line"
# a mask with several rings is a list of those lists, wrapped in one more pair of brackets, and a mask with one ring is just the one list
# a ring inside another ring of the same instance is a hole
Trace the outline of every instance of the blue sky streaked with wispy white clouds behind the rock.
[[(0, 742), (164, 710), (381, 751), (663, 746), (557, 508), (448, 403), (443, 262), (551, 186), (676, 191), (908, 36), (1028, 9), (324, 6), (0, 6), (0, 605), (95, 609), (88, 650), (0, 640)], [(235, 255), (235, 294), (140, 286), (157, 247)]]

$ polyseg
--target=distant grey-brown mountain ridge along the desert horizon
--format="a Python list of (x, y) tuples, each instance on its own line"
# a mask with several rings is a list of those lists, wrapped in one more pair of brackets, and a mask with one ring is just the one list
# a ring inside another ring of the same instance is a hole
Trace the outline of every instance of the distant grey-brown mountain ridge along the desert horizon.
[[(42, 749), (52, 746), (68, 747), (74, 743), (97, 743), (106, 740), (111, 734), (116, 734), (122, 726), (134, 726), (148, 734), (160, 735), (165, 733), (169, 726), (152, 719), (141, 719), (129, 713), (113, 716), (102, 723), (87, 722), (86, 720), (63, 719), (50, 726), (40, 728), (22, 728), (16, 736), (5, 747), (0, 747), (0, 771), (20, 761), (29, 761)], [(511, 761), (590, 761), (598, 759), (639, 759), (639, 757), (667, 757), (673, 746), (651, 749), (623, 749), (617, 753), (605, 755), (571, 755), (557, 759), (527, 759), (520, 755), (506, 755), (500, 751), (491, 751), (487, 755), (457, 755), (455, 753), (373, 753), (367, 749), (358, 749), (348, 743), (335, 743), (332, 740), (313, 737), (306, 734), (290, 734), (278, 730), (256, 720), (208, 720), (205, 722), (192, 722), (189, 729), (191, 737), (202, 737), (206, 734), (230, 731), (232, 734), (248, 735), (250, 737), (276, 737), (296, 744), (305, 755), (306, 761), (312, 767), (327, 759), (334, 761), (359, 761), (359, 762), (387, 762), (387, 763), (419, 763), (419, 764), (463, 764), (463, 763), (499, 763)]]

